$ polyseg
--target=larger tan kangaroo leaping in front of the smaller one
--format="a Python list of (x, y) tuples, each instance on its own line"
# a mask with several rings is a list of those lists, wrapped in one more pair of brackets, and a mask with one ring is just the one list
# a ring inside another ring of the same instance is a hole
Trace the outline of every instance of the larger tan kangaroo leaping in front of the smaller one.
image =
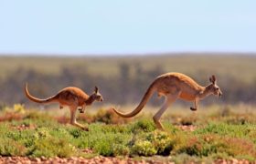
[(164, 96), (165, 103), (160, 108), (155, 116), (153, 117), (156, 128), (164, 130), (161, 122), (159, 121), (166, 108), (168, 108), (172, 103), (176, 101), (177, 98), (181, 98), (187, 101), (194, 101), (194, 107), (190, 109), (195, 111), (198, 109), (198, 102), (208, 95), (214, 94), (221, 97), (222, 92), (217, 86), (216, 77), (213, 75), (209, 77), (210, 84), (206, 87), (202, 87), (197, 84), (191, 77), (187, 77), (184, 74), (171, 72), (156, 77), (154, 82), (146, 90), (143, 99), (137, 108), (135, 108), (131, 113), (123, 114), (117, 111), (115, 108), (112, 110), (123, 118), (132, 118), (137, 115), (145, 106), (147, 101), (152, 95), (157, 92), (158, 97)]

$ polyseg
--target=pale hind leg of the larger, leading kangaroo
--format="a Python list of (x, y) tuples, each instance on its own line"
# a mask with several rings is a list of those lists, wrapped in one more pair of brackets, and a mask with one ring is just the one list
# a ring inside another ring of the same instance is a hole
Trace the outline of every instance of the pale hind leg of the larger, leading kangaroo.
[(164, 114), (165, 110), (176, 101), (176, 98), (178, 97), (178, 93), (176, 95), (167, 95), (165, 97), (165, 103), (163, 104), (162, 108), (160, 108), (153, 117), (155, 126), (158, 129), (164, 130), (163, 125), (160, 122), (161, 116)]

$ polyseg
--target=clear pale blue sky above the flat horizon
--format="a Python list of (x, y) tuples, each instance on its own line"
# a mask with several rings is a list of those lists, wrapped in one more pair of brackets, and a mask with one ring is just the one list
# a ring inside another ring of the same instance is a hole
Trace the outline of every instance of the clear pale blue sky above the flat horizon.
[(255, 0), (0, 0), (0, 54), (256, 52)]

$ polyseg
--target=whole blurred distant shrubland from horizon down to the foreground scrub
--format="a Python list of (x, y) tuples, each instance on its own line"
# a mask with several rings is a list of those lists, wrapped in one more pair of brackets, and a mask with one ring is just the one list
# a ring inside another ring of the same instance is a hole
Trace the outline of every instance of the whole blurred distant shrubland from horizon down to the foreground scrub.
[[(32, 95), (48, 97), (59, 89), (76, 86), (91, 94), (99, 86), (105, 102), (138, 103), (155, 77), (181, 72), (202, 86), (215, 74), (223, 97), (218, 103), (256, 103), (256, 56), (174, 55), (110, 57), (0, 57), (0, 104), (26, 103), (23, 87)], [(209, 97), (204, 103), (216, 102)], [(156, 98), (151, 100), (157, 104)]]

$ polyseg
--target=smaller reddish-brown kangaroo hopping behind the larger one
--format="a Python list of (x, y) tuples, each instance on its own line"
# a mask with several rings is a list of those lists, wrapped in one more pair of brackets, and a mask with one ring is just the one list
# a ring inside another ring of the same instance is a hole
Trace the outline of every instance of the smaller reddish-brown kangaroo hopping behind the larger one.
[(65, 87), (61, 89), (59, 93), (55, 96), (45, 99), (39, 99), (29, 94), (26, 84), (25, 94), (31, 101), (37, 103), (57, 102), (59, 103), (60, 109), (64, 106), (68, 106), (70, 110), (70, 124), (86, 131), (88, 131), (89, 128), (80, 125), (76, 121), (77, 109), (79, 108), (80, 113), (84, 113), (86, 106), (90, 106), (94, 101), (103, 101), (103, 97), (99, 93), (98, 87), (95, 87), (94, 92), (91, 94), (91, 96), (88, 96), (79, 87)]

